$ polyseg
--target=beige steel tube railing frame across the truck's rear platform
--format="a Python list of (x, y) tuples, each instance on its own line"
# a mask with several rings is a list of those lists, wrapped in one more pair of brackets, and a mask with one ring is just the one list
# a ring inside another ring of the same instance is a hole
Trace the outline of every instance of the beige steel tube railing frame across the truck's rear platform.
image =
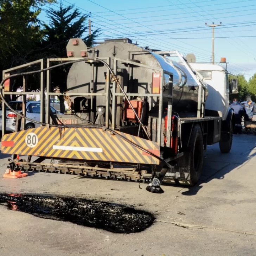
[[(72, 58), (72, 60), (79, 60), (79, 59), (83, 59), (83, 58)], [(107, 62), (108, 65), (110, 65), (110, 58), (100, 58), (102, 60), (105, 60)], [(28, 66), (31, 65), (37, 65), (40, 64), (40, 69), (44, 69), (45, 66), (47, 68), (49, 68), (51, 66), (51, 62), (68, 62), (70, 61), (70, 58), (49, 58), (49, 59), (40, 59), (34, 62), (30, 62), (30, 63), (26, 63), (24, 65), (20, 65), (20, 66), (16, 66), (14, 68), (11, 69), (7, 69), (3, 71), (3, 77), (5, 77), (5, 74), (9, 73), (9, 72), (13, 72), (13, 71), (18, 71), (19, 69), (22, 68), (26, 68)], [(120, 59), (120, 58), (114, 58), (114, 73), (117, 74), (117, 62), (122, 62), (122, 63), (127, 63), (128, 65), (130, 64), (134, 64), (134, 62), (129, 61), (129, 60), (124, 60), (124, 59)], [(162, 126), (162, 104), (163, 104), (163, 97), (167, 97), (169, 98), (169, 103), (168, 103), (168, 120), (171, 120), (171, 99), (172, 99), (172, 95), (163, 95), (163, 86), (164, 86), (164, 74), (167, 73), (165, 72), (163, 69), (161, 68), (157, 68), (157, 67), (152, 67), (152, 66), (148, 66), (148, 65), (144, 65), (144, 64), (140, 64), (140, 63), (136, 63), (136, 66), (141, 66), (143, 68), (147, 68), (147, 69), (151, 69), (154, 71), (159, 71), (160, 72), (160, 92), (159, 94), (152, 94), (152, 93), (127, 93), (127, 96), (141, 96), (141, 97), (157, 97), (159, 99), (159, 114), (158, 114), (158, 130), (157, 130), (157, 143), (159, 143), (159, 145), (161, 145), (161, 126)], [(107, 78), (106, 78), (106, 86), (105, 86), (105, 92), (104, 93), (97, 93), (94, 92), (94, 76), (95, 76), (95, 65), (92, 64), (92, 77), (91, 77), (91, 92), (88, 93), (83, 93), (80, 92), (79, 96), (91, 96), (91, 98), (95, 97), (95, 96), (105, 96), (106, 98), (106, 109), (105, 109), (105, 126), (107, 128), (109, 128), (109, 100), (110, 100), (110, 84), (111, 84), (111, 79), (110, 79), (110, 71), (108, 69), (106, 69), (107, 71)], [(167, 73), (168, 75), (172, 75)], [(64, 93), (64, 92), (50, 92), (50, 80), (51, 80), (51, 72), (50, 70), (44, 71), (40, 73), (40, 92), (27, 92), (26, 91), (26, 81), (23, 83), (23, 92), (10, 92), (10, 91), (4, 91), (3, 90), (3, 94), (4, 95), (29, 95), (29, 94), (35, 94), (35, 95), (40, 95), (40, 100), (41, 102), (44, 102), (44, 99), (46, 99), (46, 104), (40, 104), (40, 111), (41, 113), (46, 113), (46, 115), (41, 115), (40, 116), (40, 122), (42, 123), (46, 123), (49, 124), (50, 123), (50, 96), (54, 95), (54, 96), (59, 96), (59, 95), (69, 95), (69, 96), (76, 96), (78, 95), (78, 93)], [(113, 81), (113, 91), (112, 91), (112, 95), (113, 95), (113, 106), (112, 106), (112, 120), (111, 120), (111, 126), (112, 129), (116, 128), (116, 118), (115, 118), (115, 113), (116, 113), (116, 97), (117, 96), (123, 96), (122, 92), (116, 92), (116, 88), (117, 88), (117, 84), (115, 81)], [(46, 90), (45, 90), (46, 89)], [(45, 92), (45, 93), (44, 93)], [(24, 101), (24, 100), (23, 100)], [(26, 103), (25, 103), (25, 108), (26, 108)], [(26, 111), (26, 109), (25, 109)], [(23, 110), (24, 114), (25, 111)], [(4, 102), (2, 102), (2, 116), (6, 116), (6, 106), (4, 104)], [(25, 124), (24, 124), (25, 127)], [(23, 128), (24, 128), (23, 127)], [(2, 136), (6, 133), (6, 119), (2, 118)], [(167, 133), (171, 133), (171, 123), (168, 122), (168, 128), (167, 128)], [(170, 137), (168, 136), (168, 144), (170, 141)]]

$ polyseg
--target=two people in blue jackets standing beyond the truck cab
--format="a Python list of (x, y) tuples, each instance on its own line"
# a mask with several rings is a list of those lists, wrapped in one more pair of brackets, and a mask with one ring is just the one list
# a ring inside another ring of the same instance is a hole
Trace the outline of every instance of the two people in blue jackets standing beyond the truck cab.
[(256, 104), (250, 97), (247, 98), (247, 102), (243, 105), (240, 104), (237, 98), (234, 98), (230, 107), (234, 110), (236, 119), (234, 134), (242, 134), (242, 117), (244, 117), (244, 121), (251, 121), (256, 114)]

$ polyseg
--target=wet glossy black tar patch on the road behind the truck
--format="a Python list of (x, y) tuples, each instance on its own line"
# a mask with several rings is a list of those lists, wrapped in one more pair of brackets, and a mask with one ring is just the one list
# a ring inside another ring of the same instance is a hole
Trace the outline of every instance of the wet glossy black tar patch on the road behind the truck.
[(66, 197), (0, 194), (0, 204), (37, 217), (69, 221), (115, 233), (143, 231), (155, 219), (151, 213), (123, 205)]

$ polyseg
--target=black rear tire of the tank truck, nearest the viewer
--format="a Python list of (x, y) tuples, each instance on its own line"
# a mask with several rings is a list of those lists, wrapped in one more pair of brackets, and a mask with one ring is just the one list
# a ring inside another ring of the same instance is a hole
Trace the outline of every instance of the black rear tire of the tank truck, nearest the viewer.
[(203, 134), (199, 124), (194, 124), (188, 147), (182, 158), (181, 169), (188, 172), (187, 181), (196, 185), (203, 171), (204, 143)]

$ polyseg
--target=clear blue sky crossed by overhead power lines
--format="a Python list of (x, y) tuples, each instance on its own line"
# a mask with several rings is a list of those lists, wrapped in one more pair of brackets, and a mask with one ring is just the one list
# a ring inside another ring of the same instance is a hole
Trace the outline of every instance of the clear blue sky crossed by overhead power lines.
[[(92, 29), (101, 28), (98, 41), (128, 37), (139, 46), (194, 53), (210, 62), (212, 28), (215, 61), (226, 57), (231, 73), (247, 79), (256, 73), (256, 0), (62, 0), (82, 13), (91, 12)], [(58, 4), (52, 6), (57, 8)], [(44, 9), (48, 9), (46, 5)], [(40, 18), (47, 23), (45, 12)], [(86, 32), (88, 33), (88, 32)], [(85, 34), (86, 34), (85, 33)]]

